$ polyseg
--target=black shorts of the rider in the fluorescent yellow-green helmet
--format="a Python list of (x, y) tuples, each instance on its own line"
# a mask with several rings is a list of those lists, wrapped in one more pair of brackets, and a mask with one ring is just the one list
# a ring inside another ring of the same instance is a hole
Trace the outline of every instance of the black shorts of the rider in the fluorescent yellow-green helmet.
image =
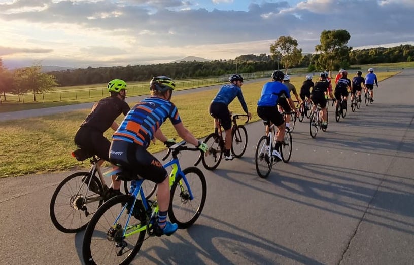
[(102, 132), (87, 126), (81, 126), (75, 134), (75, 144), (86, 148), (99, 158), (109, 161), (109, 146), (111, 142)]

